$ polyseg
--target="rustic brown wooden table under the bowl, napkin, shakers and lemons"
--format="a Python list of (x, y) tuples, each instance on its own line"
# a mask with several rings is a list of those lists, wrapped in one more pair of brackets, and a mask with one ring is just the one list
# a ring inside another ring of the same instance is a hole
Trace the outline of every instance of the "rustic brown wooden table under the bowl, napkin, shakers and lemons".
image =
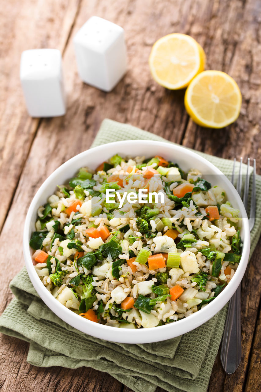
[[(12, 298), (9, 282), (24, 265), (22, 228), (33, 195), (54, 169), (89, 148), (104, 118), (223, 158), (255, 157), (260, 173), (260, 0), (9, 0), (0, 12), (0, 312)], [(91, 15), (125, 29), (129, 70), (111, 93), (83, 84), (76, 71), (72, 38)], [(205, 49), (207, 69), (225, 71), (236, 79), (243, 104), (230, 127), (213, 132), (196, 126), (184, 109), (184, 91), (167, 91), (153, 82), (148, 67), (151, 46), (172, 32), (192, 35)], [(42, 47), (58, 48), (63, 54), (68, 93), (63, 117), (32, 119), (25, 109), (20, 54)], [(218, 355), (208, 392), (261, 390), (260, 252), (259, 242), (242, 282), (241, 364), (227, 376)], [(31, 366), (26, 362), (27, 349), (24, 341), (1, 336), (1, 392), (130, 392), (110, 375), (91, 368)]]

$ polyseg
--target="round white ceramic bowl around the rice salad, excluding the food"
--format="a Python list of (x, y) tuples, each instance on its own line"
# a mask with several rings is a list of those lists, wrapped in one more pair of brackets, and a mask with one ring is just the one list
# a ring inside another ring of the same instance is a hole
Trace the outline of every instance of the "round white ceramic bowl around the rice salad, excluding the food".
[[(101, 162), (107, 160), (107, 158), (110, 158), (116, 153), (119, 153), (122, 156), (145, 155), (146, 158), (161, 155), (167, 160), (177, 162), (185, 171), (191, 168), (197, 168), (206, 179), (206, 174), (212, 176), (212, 185), (220, 185), (225, 189), (228, 200), (232, 201), (233, 207), (238, 208), (241, 211), (241, 216), (244, 217), (241, 221), (241, 237), (243, 240), (242, 258), (231, 282), (214, 301), (210, 302), (203, 309), (193, 313), (187, 318), (169, 323), (168, 325), (162, 325), (161, 327), (141, 329), (115, 328), (93, 323), (92, 321), (82, 318), (67, 309), (52, 296), (40, 281), (34, 269), (29, 240), (32, 232), (35, 230), (34, 224), (38, 207), (46, 203), (47, 198), (56, 190), (57, 184), (66, 183), (66, 180), (73, 177), (80, 167), (89, 166), (91, 169), (95, 169)], [(215, 179), (213, 175), (215, 175)], [(58, 169), (44, 181), (34, 196), (26, 216), (23, 249), (25, 265), (34, 288), (45, 304), (63, 321), (96, 338), (119, 343), (150, 343), (174, 338), (199, 327), (199, 325), (212, 318), (228, 302), (236, 291), (246, 270), (250, 251), (250, 231), (241, 198), (230, 181), (228, 181), (221, 171), (210, 162), (184, 147), (172, 145), (170, 143), (148, 140), (128, 140), (109, 143), (84, 151), (63, 163), (63, 165), (58, 167)]]

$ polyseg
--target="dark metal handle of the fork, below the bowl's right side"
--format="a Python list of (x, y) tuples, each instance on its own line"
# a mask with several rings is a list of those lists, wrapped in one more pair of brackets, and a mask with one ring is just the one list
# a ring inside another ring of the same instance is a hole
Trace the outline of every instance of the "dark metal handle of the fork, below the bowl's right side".
[(221, 344), (220, 359), (227, 374), (234, 373), (241, 361), (240, 291), (241, 285), (230, 299)]

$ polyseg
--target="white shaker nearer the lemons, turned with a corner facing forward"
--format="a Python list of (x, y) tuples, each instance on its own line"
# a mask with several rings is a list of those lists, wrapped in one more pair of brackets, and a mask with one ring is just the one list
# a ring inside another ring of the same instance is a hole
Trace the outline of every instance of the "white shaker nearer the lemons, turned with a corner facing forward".
[(111, 91), (127, 71), (123, 29), (108, 20), (92, 16), (73, 41), (83, 82)]

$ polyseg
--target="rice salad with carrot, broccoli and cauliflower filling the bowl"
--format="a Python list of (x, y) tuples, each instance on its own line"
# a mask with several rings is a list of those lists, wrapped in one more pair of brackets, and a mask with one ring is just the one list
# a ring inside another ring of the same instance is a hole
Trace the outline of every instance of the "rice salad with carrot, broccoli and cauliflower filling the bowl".
[[(108, 203), (106, 189), (147, 196)], [(229, 283), (239, 221), (225, 191), (197, 169), (116, 154), (58, 186), (38, 209), (30, 246), (39, 278), (64, 306), (111, 327), (149, 328), (197, 312)]]

